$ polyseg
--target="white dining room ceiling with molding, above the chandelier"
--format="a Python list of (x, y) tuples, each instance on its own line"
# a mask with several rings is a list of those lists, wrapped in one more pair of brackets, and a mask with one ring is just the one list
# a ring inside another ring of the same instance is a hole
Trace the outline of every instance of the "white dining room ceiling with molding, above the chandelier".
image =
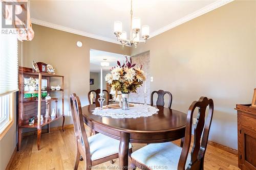
[[(134, 0), (133, 13), (141, 18), (141, 25), (150, 26), (152, 37), (230, 1)], [(114, 21), (122, 21), (123, 30), (129, 33), (130, 3), (130, 0), (31, 1), (30, 11), (33, 23), (117, 42)]]

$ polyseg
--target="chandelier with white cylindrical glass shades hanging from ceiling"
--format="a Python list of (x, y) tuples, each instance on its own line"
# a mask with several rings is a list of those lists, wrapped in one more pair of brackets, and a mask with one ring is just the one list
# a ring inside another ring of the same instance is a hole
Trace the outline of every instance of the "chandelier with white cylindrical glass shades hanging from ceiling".
[(122, 22), (114, 22), (114, 34), (117, 37), (117, 40), (124, 45), (137, 47), (137, 44), (140, 42), (145, 42), (148, 37), (150, 37), (150, 27), (144, 25), (141, 27), (141, 37), (143, 40), (140, 40), (140, 18), (133, 17), (133, 0), (131, 0), (131, 28), (130, 28), (130, 39), (127, 39), (127, 33), (122, 30)]

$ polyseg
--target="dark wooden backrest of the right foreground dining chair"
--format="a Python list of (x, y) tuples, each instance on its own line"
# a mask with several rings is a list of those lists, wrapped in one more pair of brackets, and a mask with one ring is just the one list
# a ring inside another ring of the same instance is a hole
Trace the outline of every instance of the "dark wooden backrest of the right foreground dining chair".
[[(206, 117), (206, 108), (208, 109), (208, 116)], [(201, 97), (199, 101), (195, 101), (191, 104), (187, 113), (187, 124), (185, 131), (184, 144), (178, 164), (178, 170), (184, 170), (187, 155), (191, 143), (191, 130), (193, 124), (193, 114), (196, 108), (199, 108), (197, 122), (194, 129), (194, 144), (191, 150), (191, 160), (187, 169), (203, 169), (204, 155), (207, 147), (209, 129), (212, 120), (212, 114), (214, 111), (214, 102), (212, 99), (207, 99), (206, 97)], [(202, 135), (203, 133), (203, 135)], [(202, 136), (202, 141), (201, 141)], [(200, 142), (201, 141), (201, 142)]]

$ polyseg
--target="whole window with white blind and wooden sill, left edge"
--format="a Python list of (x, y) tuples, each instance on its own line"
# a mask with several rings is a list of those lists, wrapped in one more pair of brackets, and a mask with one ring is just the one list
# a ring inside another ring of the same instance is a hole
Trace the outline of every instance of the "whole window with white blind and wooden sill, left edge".
[(0, 139), (13, 124), (13, 95), (18, 90), (17, 35), (0, 34)]

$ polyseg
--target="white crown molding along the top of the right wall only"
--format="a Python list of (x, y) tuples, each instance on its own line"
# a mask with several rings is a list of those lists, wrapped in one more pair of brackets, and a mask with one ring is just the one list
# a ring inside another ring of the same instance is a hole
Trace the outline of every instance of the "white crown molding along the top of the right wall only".
[(232, 1), (234, 1), (234, 0), (219, 0), (219, 1), (215, 2), (215, 3), (212, 3), (212, 4), (210, 4), (210, 5), (208, 5), (208, 6), (204, 7), (204, 8), (201, 8), (201, 9), (199, 9), (199, 10), (197, 10), (197, 11), (195, 11), (195, 12), (193, 12), (193, 13), (191, 13), (191, 14), (183, 17), (183, 18), (180, 18), (180, 19), (170, 23), (167, 26), (164, 26), (164, 27), (158, 29), (157, 31), (152, 32), (151, 35), (150, 35), (150, 38), (152, 38), (154, 36), (157, 36), (157, 35), (165, 32), (165, 31), (168, 31), (168, 30), (172, 29), (172, 28), (175, 28), (175, 27), (181, 25), (182, 23), (185, 23), (185, 22), (187, 22), (189, 20), (192, 20), (192, 19), (194, 19), (194, 18), (196, 18), (198, 16), (201, 16), (201, 15), (207, 13), (207, 12), (215, 10), (215, 9), (217, 9), (217, 8), (223, 6), (223, 5), (226, 5), (226, 4), (228, 4), (228, 3), (232, 2)]

